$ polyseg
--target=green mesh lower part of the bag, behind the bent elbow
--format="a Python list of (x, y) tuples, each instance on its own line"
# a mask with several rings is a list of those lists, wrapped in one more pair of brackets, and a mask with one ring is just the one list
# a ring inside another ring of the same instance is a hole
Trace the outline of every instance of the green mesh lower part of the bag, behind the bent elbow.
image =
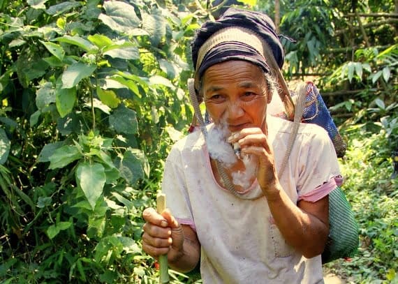
[(358, 224), (341, 188), (329, 193), (329, 236), (322, 263), (353, 257), (358, 251)]

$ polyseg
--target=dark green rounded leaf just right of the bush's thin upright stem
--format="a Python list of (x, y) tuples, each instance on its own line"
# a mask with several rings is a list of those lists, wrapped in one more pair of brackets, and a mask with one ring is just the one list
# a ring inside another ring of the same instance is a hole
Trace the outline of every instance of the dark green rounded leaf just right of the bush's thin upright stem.
[(109, 124), (117, 133), (135, 134), (138, 132), (138, 121), (135, 111), (120, 105), (109, 116)]

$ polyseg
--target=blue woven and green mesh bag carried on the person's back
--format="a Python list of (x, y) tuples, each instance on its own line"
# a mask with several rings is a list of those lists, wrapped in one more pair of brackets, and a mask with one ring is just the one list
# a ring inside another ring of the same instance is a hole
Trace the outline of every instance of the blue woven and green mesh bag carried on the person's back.
[[(295, 94), (292, 97), (296, 106), (300, 103), (302, 105), (301, 108), (296, 108), (296, 111), (302, 111), (302, 122), (323, 127), (334, 144), (337, 156), (344, 156), (346, 144), (341, 139), (318, 89), (311, 82), (302, 88), (305, 90), (304, 94), (299, 96), (296, 93), (297, 97)], [(346, 195), (339, 187), (329, 193), (329, 227), (327, 244), (322, 253), (322, 263), (353, 257), (358, 251), (358, 224)]]

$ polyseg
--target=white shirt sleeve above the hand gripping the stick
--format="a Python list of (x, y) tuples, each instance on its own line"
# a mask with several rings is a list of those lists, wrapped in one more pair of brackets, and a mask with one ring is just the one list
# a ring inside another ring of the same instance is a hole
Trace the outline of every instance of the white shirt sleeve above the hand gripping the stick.
[(163, 172), (162, 192), (166, 195), (168, 209), (180, 224), (190, 225), (195, 230), (186, 188), (184, 165), (180, 151), (173, 147), (165, 162)]

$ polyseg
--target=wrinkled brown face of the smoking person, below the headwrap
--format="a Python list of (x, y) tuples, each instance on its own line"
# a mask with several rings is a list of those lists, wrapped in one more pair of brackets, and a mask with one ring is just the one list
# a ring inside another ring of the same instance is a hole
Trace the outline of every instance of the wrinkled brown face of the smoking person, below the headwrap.
[(209, 67), (202, 77), (202, 96), (215, 124), (226, 124), (232, 133), (249, 127), (265, 133), (270, 94), (258, 66), (236, 60)]

